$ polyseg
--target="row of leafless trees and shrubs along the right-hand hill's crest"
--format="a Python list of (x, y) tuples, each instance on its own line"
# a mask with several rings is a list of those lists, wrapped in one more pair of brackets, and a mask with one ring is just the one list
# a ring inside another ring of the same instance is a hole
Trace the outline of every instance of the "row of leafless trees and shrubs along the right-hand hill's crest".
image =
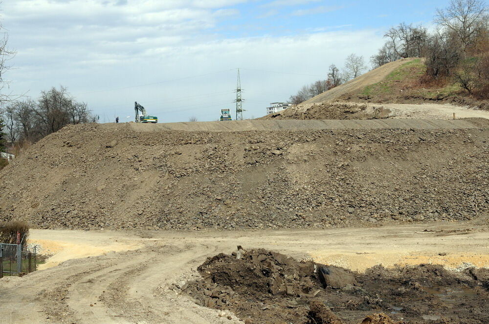
[[(424, 84), (456, 83), (467, 94), (489, 99), (489, 8), (484, 0), (450, 0), (437, 9), (435, 30), (400, 23), (385, 34), (386, 42), (370, 58), (372, 68), (402, 58), (424, 57)], [(367, 70), (364, 59), (351, 54), (342, 72), (333, 64), (326, 80), (303, 86), (289, 102), (298, 104)]]

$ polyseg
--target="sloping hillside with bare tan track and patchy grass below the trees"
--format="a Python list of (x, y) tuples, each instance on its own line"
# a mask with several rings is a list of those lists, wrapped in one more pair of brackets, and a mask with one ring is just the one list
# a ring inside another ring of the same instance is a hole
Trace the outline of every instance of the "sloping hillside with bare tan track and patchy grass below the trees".
[[(457, 85), (422, 84), (420, 77), (424, 70), (424, 60), (419, 58), (387, 63), (308, 101), (261, 119), (396, 118), (397, 115), (380, 116), (381, 104), (443, 103), (489, 110), (489, 101), (474, 100)], [(408, 117), (426, 118), (422, 110), (421, 117)]]

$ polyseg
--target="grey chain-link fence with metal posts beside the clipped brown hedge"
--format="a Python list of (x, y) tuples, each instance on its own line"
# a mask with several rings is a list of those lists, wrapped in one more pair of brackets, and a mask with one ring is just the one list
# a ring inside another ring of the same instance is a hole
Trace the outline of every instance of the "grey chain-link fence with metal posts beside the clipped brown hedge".
[(37, 251), (22, 244), (0, 243), (0, 278), (22, 275), (37, 269)]

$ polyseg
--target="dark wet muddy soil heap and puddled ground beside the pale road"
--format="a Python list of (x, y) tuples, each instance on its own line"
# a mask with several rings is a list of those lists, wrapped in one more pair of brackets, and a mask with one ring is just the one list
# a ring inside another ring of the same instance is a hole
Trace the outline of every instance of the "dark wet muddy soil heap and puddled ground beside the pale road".
[(184, 291), (246, 324), (487, 324), (489, 269), (421, 264), (365, 273), (263, 249), (219, 254)]

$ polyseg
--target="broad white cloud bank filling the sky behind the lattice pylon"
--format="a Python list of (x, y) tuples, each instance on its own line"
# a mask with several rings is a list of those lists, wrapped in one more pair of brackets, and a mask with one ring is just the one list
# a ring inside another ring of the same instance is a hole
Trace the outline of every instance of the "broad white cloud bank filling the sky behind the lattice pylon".
[[(203, 121), (232, 105), (233, 68), (321, 76), (331, 63), (341, 66), (352, 52), (368, 57), (383, 42), (374, 30), (328, 31), (333, 27), (297, 36), (218, 34), (217, 26), (232, 30), (222, 21), (240, 14), (228, 7), (238, 2), (244, 1), (4, 1), (3, 24), (18, 51), (6, 77), (14, 92), (30, 90), (33, 97), (66, 85), (101, 116), (126, 116), (131, 102), (140, 101), (162, 121), (185, 121), (189, 114)], [(263, 115), (268, 102), (285, 101), (316, 79), (243, 70), (246, 116)], [(125, 89), (106, 91), (117, 88)], [(169, 113), (175, 110), (182, 111)]]

